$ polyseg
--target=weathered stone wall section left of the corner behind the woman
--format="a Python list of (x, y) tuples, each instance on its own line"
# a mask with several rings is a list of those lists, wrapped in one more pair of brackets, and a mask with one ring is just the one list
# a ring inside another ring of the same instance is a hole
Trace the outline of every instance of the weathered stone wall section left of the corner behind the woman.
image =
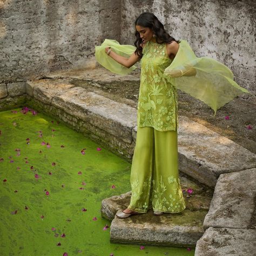
[(119, 21), (119, 0), (0, 0), (0, 83), (90, 65)]

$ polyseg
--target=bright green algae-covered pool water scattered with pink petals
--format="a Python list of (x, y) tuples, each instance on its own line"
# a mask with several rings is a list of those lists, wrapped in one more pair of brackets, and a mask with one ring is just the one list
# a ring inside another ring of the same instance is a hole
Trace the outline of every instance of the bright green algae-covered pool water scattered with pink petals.
[(194, 255), (110, 243), (101, 201), (131, 190), (131, 164), (27, 107), (0, 112), (0, 255)]

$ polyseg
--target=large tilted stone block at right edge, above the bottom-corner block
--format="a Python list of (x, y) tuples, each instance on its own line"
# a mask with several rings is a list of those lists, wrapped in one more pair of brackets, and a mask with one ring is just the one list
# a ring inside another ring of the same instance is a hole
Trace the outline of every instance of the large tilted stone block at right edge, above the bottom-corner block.
[(255, 228), (256, 169), (220, 174), (204, 228)]

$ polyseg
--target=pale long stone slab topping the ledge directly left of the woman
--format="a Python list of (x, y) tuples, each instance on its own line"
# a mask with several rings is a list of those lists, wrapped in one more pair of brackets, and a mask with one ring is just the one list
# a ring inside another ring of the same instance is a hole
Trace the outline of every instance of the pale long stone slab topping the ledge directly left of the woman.
[(133, 141), (132, 129), (136, 126), (137, 117), (133, 107), (88, 92), (82, 87), (73, 87), (53, 97), (52, 105), (119, 137), (124, 143), (131, 144)]

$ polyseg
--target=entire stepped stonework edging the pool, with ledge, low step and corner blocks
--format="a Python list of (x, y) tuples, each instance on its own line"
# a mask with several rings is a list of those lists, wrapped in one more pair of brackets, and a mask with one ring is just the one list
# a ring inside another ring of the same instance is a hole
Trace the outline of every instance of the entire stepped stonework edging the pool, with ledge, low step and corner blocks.
[[(136, 108), (87, 91), (70, 78), (27, 81), (24, 86), (28, 106), (62, 120), (131, 163)], [(161, 216), (151, 209), (118, 219), (114, 215), (129, 205), (131, 191), (103, 199), (102, 217), (112, 221), (110, 241), (191, 246), (196, 255), (253, 255), (255, 154), (185, 116), (179, 116), (178, 153), (186, 209)], [(193, 188), (191, 197), (187, 188)]]

